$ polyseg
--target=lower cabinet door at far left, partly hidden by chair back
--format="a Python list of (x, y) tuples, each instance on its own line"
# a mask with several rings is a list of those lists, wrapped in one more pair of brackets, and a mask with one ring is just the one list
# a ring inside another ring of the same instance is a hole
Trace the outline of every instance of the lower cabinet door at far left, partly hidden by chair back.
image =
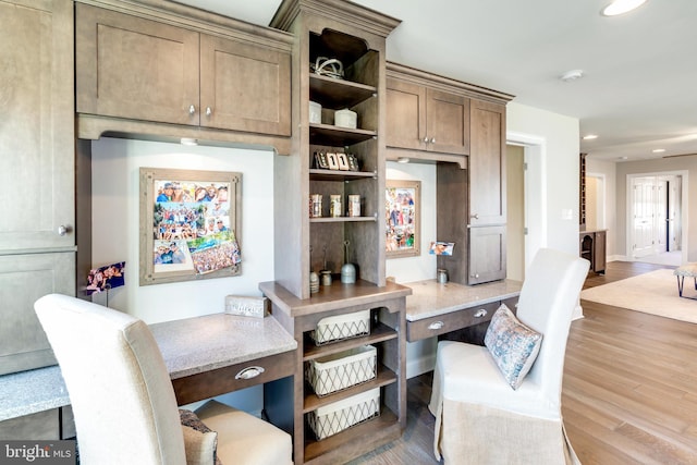
[(50, 293), (75, 295), (75, 254), (0, 256), (0, 375), (54, 365), (34, 303)]

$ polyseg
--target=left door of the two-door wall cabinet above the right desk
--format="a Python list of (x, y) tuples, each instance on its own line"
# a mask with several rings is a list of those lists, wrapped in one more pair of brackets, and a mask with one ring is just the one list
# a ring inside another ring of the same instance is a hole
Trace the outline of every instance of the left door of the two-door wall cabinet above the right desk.
[(388, 147), (426, 150), (426, 88), (387, 79)]

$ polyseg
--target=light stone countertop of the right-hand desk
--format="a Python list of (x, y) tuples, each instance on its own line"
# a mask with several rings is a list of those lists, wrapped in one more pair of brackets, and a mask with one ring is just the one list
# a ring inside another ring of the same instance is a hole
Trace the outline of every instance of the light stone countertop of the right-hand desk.
[(436, 280), (425, 280), (402, 285), (412, 287), (412, 295), (406, 297), (406, 320), (418, 321), (463, 308), (516, 297), (521, 294), (523, 283), (503, 280), (463, 285), (454, 282), (440, 284)]

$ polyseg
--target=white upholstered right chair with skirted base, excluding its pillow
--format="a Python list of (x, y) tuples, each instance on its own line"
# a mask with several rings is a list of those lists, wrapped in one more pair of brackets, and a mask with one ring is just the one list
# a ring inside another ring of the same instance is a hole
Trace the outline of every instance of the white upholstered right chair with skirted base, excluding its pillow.
[(562, 421), (561, 388), (572, 314), (588, 267), (587, 260), (559, 250), (540, 249), (535, 256), (516, 316), (542, 339), (537, 359), (516, 389), (487, 346), (439, 342), (429, 403), (439, 460), (442, 455), (447, 464), (477, 465), (578, 463)]

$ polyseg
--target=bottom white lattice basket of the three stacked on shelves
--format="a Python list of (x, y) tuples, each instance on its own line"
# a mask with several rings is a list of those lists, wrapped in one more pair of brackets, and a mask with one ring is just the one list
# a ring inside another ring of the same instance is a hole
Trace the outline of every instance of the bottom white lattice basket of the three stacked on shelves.
[(352, 395), (307, 414), (318, 440), (380, 415), (380, 388)]

